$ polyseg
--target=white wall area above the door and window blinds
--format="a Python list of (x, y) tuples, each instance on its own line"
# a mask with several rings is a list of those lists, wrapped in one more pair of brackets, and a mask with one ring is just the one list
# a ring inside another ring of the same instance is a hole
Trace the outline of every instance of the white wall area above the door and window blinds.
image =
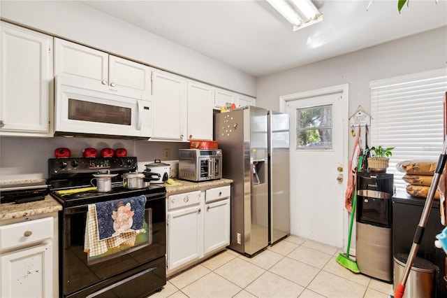
[(369, 82), (447, 66), (447, 27), (258, 78), (256, 106), (279, 111), (286, 94), (349, 84), (349, 115), (370, 111)]

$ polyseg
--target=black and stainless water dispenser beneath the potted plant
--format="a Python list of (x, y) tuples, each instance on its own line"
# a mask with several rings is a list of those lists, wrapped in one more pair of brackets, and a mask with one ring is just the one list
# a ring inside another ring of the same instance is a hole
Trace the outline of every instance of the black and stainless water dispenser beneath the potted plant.
[(357, 173), (356, 262), (362, 274), (393, 282), (393, 174)]

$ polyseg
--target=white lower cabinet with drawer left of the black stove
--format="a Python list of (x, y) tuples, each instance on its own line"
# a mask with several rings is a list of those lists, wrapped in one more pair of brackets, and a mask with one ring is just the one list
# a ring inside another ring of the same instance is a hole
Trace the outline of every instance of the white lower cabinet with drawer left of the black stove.
[(0, 227), (0, 297), (57, 297), (57, 218)]

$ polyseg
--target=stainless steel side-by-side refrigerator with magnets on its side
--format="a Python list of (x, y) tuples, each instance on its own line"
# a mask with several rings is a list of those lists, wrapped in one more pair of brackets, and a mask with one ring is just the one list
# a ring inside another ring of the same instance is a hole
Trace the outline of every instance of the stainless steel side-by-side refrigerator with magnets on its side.
[[(276, 113), (272, 115), (273, 121), (281, 118)], [(269, 137), (269, 127), (274, 129), (272, 138)], [(229, 247), (244, 255), (251, 256), (263, 250), (280, 239), (282, 236), (278, 238), (278, 235), (284, 234), (286, 229), (284, 222), (277, 223), (277, 217), (284, 218), (281, 213), (286, 212), (288, 218), (288, 206), (278, 207), (275, 201), (278, 194), (288, 194), (288, 185), (284, 186), (284, 181), (288, 181), (288, 170), (285, 170), (288, 169), (288, 158), (282, 169), (275, 163), (284, 160), (284, 150), (279, 150), (285, 148), (284, 134), (284, 125), (278, 126), (274, 122), (269, 125), (269, 111), (264, 108), (246, 106), (216, 115), (214, 135), (222, 150), (222, 176), (234, 181)], [(282, 140), (280, 145), (275, 145), (277, 139)], [(274, 149), (270, 159), (274, 172), (270, 175), (269, 140)], [(273, 196), (270, 198), (272, 204), (269, 204), (269, 191)]]

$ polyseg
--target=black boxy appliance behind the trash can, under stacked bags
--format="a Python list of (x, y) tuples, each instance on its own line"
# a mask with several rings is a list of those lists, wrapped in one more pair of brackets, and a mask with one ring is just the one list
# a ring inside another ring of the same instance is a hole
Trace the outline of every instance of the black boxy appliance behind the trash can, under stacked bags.
[[(423, 213), (425, 199), (411, 197), (404, 191), (398, 191), (393, 196), (392, 201), (393, 255), (398, 253), (409, 254), (416, 228), (419, 225), (420, 216)], [(439, 268), (439, 272), (435, 274), (434, 297), (444, 298), (447, 297), (446, 283), (443, 278), (447, 275), (446, 253), (441, 248), (434, 246), (436, 235), (444, 229), (444, 225), (441, 224), (439, 208), (439, 200), (433, 200), (416, 256), (432, 262)]]

